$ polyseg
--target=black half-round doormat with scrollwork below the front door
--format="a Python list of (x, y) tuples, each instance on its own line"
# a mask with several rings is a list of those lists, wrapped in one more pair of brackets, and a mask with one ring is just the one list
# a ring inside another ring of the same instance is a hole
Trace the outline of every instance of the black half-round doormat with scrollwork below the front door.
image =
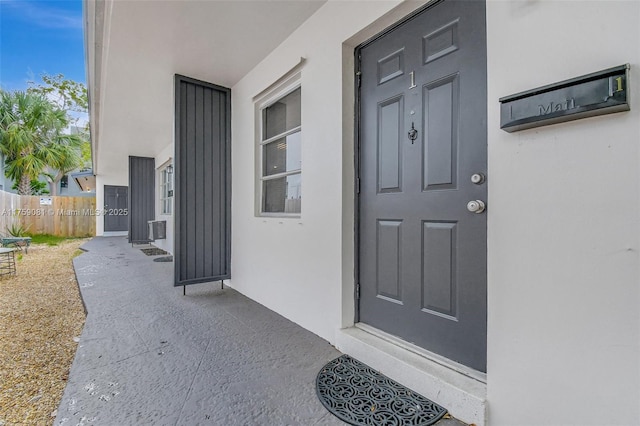
[(421, 425), (440, 420), (447, 410), (371, 367), (342, 355), (316, 378), (320, 402), (352, 425)]

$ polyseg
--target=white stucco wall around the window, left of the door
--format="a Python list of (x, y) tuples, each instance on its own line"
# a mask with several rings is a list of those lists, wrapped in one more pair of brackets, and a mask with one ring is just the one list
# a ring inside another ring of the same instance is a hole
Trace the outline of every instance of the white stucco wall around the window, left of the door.
[[(345, 294), (353, 306), (353, 252), (343, 250), (343, 227), (349, 223), (347, 246), (353, 240), (352, 219), (343, 223), (343, 214), (353, 216), (352, 148), (343, 158), (343, 42), (397, 4), (328, 2), (231, 88), (231, 285), (330, 342), (343, 325), (343, 275), (351, 280), (351, 292)], [(254, 97), (300, 58), (305, 58), (300, 68), (302, 215), (257, 217)], [(353, 103), (349, 108), (352, 119)], [(345, 174), (343, 167), (350, 171)], [(344, 196), (343, 185), (348, 188)], [(353, 323), (352, 314), (347, 322)]]

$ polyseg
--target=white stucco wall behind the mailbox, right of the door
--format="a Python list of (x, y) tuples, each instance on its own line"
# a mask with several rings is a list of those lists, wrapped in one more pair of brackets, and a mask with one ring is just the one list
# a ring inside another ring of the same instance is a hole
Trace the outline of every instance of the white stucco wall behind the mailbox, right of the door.
[[(490, 424), (640, 424), (640, 2), (487, 9)], [(625, 63), (630, 112), (499, 129), (498, 98)]]

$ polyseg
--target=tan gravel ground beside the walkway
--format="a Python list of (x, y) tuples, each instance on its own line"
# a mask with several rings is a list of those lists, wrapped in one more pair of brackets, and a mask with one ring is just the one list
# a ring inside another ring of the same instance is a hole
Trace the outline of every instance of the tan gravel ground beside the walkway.
[(84, 325), (71, 260), (85, 241), (32, 245), (0, 278), (0, 426), (55, 420)]

